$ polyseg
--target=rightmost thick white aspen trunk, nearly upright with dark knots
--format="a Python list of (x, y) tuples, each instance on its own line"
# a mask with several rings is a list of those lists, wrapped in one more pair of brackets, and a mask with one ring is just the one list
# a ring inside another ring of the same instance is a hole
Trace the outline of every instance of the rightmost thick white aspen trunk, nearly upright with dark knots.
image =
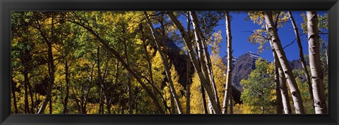
[(311, 67), (314, 110), (316, 114), (327, 114), (321, 71), (318, 16), (316, 11), (307, 11), (307, 32), (309, 39), (309, 66)]

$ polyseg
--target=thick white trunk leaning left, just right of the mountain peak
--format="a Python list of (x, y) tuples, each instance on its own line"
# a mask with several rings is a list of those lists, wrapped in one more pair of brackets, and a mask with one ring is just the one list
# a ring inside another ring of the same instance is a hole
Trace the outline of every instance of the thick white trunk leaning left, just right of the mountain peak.
[(285, 72), (285, 77), (287, 79), (287, 83), (290, 86), (290, 91), (292, 93), (293, 103), (295, 105), (295, 112), (297, 114), (304, 114), (304, 105), (302, 103), (302, 96), (300, 95), (299, 88), (297, 86), (297, 81), (295, 81), (295, 76), (292, 74), (292, 70), (288, 60), (286, 58), (285, 52), (283, 50), (283, 46), (280, 43), (280, 39), (278, 37), (278, 33), (275, 29), (272, 12), (268, 11), (264, 13), (264, 18), (266, 22), (266, 29), (268, 31), (268, 35), (272, 41), (272, 48), (277, 53), (279, 62), (281, 67), (283, 67), (283, 71)]

